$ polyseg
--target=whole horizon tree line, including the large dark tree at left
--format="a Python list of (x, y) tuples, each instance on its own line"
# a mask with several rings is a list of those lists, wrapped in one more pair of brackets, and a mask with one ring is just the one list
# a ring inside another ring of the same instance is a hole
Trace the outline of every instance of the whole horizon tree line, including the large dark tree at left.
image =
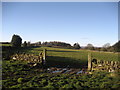
[[(8, 42), (6, 42), (8, 43)], [(113, 46), (110, 46), (109, 43), (103, 45), (103, 47), (94, 47), (92, 44), (87, 44), (84, 48), (80, 46), (79, 43), (75, 43), (73, 46), (69, 43), (59, 42), (59, 41), (51, 41), (51, 42), (43, 42), (41, 43), (30, 43), (24, 41), (22, 43), (22, 38), (19, 35), (13, 35), (12, 40), (10, 42), (12, 47), (30, 47), (30, 46), (47, 46), (47, 47), (58, 47), (58, 48), (68, 48), (68, 49), (87, 49), (87, 50), (97, 50), (97, 51), (109, 51), (109, 52), (120, 52), (120, 40), (115, 43)]]

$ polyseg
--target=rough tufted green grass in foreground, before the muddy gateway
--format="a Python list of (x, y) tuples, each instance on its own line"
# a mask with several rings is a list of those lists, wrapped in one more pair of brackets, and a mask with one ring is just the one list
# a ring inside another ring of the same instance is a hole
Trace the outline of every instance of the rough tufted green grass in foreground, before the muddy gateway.
[[(26, 68), (25, 68), (26, 67)], [(108, 72), (92, 74), (51, 74), (41, 68), (30, 68), (23, 61), (3, 61), (3, 89), (18, 88), (120, 88), (120, 73), (111, 76)]]

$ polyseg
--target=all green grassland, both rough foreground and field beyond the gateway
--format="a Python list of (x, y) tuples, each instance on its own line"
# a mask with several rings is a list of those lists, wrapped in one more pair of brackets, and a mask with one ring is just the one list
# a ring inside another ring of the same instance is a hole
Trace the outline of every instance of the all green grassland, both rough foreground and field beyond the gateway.
[[(49, 73), (48, 68), (87, 68), (88, 52), (93, 58), (100, 60), (119, 61), (118, 53), (93, 52), (88, 50), (62, 49), (52, 47), (34, 47), (20, 49), (20, 52), (38, 55), (47, 49), (45, 68), (31, 67), (25, 61), (3, 60), (3, 88), (119, 88), (119, 73)], [(7, 54), (7, 51), (4, 51)]]

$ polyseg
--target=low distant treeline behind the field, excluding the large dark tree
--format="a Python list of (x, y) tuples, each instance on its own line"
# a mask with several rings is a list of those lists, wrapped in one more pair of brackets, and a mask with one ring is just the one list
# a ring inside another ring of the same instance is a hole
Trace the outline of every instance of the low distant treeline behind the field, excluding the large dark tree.
[(108, 51), (108, 52), (120, 52), (120, 41), (110, 46), (109, 43), (103, 45), (103, 47), (94, 47), (92, 44), (87, 44), (84, 47), (80, 47), (80, 44), (75, 43), (73, 46), (69, 43), (65, 42), (37, 42), (31, 44), (32, 46), (47, 46), (47, 47), (61, 47), (61, 48), (69, 48), (69, 49), (87, 49), (87, 50), (96, 50), (96, 51)]

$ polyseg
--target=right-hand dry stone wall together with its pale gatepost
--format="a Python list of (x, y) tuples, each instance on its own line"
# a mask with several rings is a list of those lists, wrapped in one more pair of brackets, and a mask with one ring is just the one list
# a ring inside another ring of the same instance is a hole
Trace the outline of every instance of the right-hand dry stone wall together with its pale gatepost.
[(88, 53), (88, 70), (115, 72), (115, 71), (119, 71), (119, 69), (120, 69), (120, 61), (99, 60), (93, 58), (91, 53)]

